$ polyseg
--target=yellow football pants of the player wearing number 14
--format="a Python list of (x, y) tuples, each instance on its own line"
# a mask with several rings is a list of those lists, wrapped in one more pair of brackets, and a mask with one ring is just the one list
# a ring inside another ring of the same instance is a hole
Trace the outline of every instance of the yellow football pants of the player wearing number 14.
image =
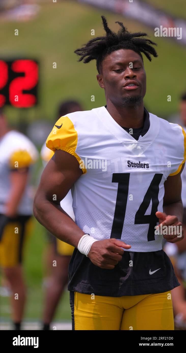
[(123, 297), (74, 293), (75, 330), (174, 330), (170, 291)]

